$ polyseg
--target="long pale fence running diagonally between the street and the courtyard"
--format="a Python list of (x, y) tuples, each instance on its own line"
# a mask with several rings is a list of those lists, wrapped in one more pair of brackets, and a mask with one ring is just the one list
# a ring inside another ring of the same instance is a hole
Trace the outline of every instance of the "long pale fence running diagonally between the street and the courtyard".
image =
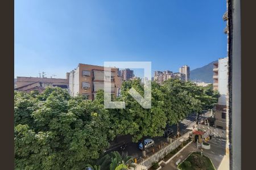
[(152, 163), (158, 162), (160, 159), (163, 159), (164, 156), (166, 156), (171, 151), (175, 150), (178, 146), (181, 145), (183, 141), (186, 141), (189, 137), (189, 134), (191, 134), (192, 131), (188, 131), (181, 137), (177, 138), (174, 142), (170, 143), (166, 147), (162, 148), (162, 150), (156, 152), (154, 155), (150, 156), (150, 158), (147, 158), (146, 160), (143, 160), (141, 162), (141, 165), (150, 168), (152, 166)]

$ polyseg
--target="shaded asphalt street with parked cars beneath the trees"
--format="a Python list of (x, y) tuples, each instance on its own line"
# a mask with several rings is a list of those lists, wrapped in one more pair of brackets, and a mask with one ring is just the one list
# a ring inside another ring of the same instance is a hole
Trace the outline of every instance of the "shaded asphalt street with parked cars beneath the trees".
[[(199, 121), (201, 121), (204, 118), (207, 118), (210, 116), (210, 112), (205, 113), (205, 115), (201, 115), (199, 118)], [(196, 114), (189, 114), (187, 118), (179, 122), (179, 132), (180, 135), (187, 133), (189, 130), (192, 129), (194, 125), (196, 125)], [(174, 135), (176, 135), (177, 127), (176, 125), (171, 126), (172, 129), (174, 129)], [(172, 139), (174, 139), (174, 135), (171, 136)], [(120, 146), (123, 145), (123, 142), (127, 144), (127, 147), (123, 152), (126, 152), (128, 155), (133, 156), (134, 158), (137, 158), (137, 160), (142, 159), (142, 151), (139, 150), (138, 145), (139, 142), (135, 143), (131, 141), (131, 135), (125, 135), (125, 136), (119, 136), (114, 139), (114, 141), (110, 142), (110, 148), (106, 150), (106, 152), (111, 151), (119, 151), (120, 154), (122, 152), (120, 151)], [(146, 137), (151, 138), (151, 137)], [(154, 148), (154, 151), (159, 151), (159, 146), (161, 147), (164, 145), (164, 142), (167, 142), (167, 139), (164, 137), (155, 137), (151, 138), (154, 140), (155, 145), (154, 147), (150, 147), (146, 149), (146, 155), (150, 156), (153, 154), (152, 149)]]

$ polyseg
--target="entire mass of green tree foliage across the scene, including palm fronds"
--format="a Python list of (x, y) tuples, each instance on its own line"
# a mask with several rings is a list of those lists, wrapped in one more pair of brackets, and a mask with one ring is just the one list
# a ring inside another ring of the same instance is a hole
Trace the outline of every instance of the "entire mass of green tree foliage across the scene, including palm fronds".
[(122, 97), (113, 97), (125, 101), (125, 109), (104, 109), (103, 91), (94, 101), (69, 96), (61, 88), (42, 94), (15, 91), (15, 168), (84, 169), (97, 164), (92, 168), (125, 169), (133, 159), (118, 152), (96, 161), (116, 135), (130, 134), (134, 142), (162, 136), (167, 124), (213, 108), (219, 97), (212, 86), (169, 79), (162, 86), (152, 82), (152, 107), (144, 109), (129, 94), (131, 87), (143, 96), (143, 84), (135, 79), (123, 82)]

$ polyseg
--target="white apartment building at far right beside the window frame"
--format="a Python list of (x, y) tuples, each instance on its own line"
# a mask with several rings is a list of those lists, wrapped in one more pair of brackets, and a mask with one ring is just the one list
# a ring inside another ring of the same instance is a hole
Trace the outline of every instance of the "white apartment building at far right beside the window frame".
[(218, 90), (220, 97), (214, 113), (214, 126), (226, 129), (228, 100), (228, 57), (218, 59), (213, 64), (213, 89)]

